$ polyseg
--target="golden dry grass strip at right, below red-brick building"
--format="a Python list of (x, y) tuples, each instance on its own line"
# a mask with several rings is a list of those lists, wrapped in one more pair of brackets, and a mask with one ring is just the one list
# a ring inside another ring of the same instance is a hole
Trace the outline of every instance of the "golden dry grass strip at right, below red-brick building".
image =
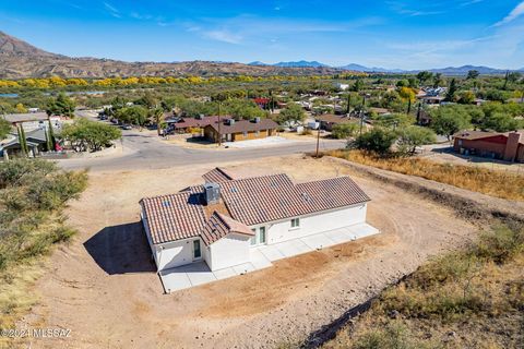
[(524, 176), (486, 168), (438, 164), (409, 157), (379, 157), (361, 151), (331, 151), (325, 155), (404, 174), (418, 176), (483, 194), (524, 201)]

